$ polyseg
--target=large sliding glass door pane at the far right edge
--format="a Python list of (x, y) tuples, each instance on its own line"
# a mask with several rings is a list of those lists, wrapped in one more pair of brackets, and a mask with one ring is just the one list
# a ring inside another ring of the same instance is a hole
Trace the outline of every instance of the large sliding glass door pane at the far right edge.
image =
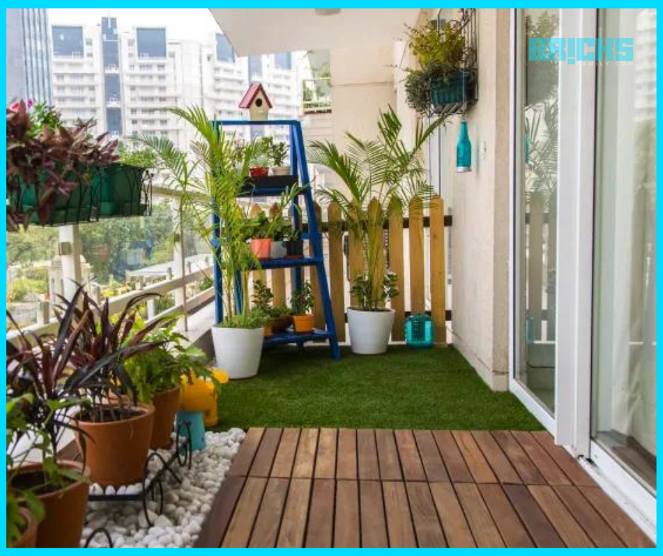
[(605, 9), (597, 67), (592, 438), (656, 490), (656, 10)]

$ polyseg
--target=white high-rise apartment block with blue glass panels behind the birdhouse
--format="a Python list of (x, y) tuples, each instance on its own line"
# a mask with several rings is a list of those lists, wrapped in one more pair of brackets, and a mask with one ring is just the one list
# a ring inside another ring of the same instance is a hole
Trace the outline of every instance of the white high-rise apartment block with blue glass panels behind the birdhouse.
[[(304, 56), (299, 64), (290, 53), (238, 57), (220, 33), (173, 40), (168, 28), (122, 28), (111, 17), (53, 25), (52, 44), (54, 104), (63, 119), (94, 118), (114, 138), (159, 135), (186, 147), (192, 133), (168, 107), (196, 105), (217, 119), (240, 119), (238, 104), (257, 80), (274, 104), (272, 117), (300, 113)], [(285, 129), (274, 134), (286, 138)]]

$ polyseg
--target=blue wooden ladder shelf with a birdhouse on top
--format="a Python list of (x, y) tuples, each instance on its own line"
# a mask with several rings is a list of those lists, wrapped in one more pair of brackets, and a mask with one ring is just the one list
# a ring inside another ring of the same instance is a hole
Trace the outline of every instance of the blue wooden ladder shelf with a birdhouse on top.
[[(341, 358), (341, 350), (339, 349), (339, 339), (336, 337), (336, 325), (334, 325), (334, 314), (331, 311), (331, 299), (329, 298), (329, 286), (327, 284), (327, 274), (324, 272), (324, 258), (322, 255), (322, 234), (317, 229), (317, 219), (315, 218), (315, 210), (313, 205), (313, 195), (310, 188), (310, 179), (308, 176), (308, 165), (306, 164), (306, 152), (304, 149), (304, 137), (302, 134), (301, 123), (297, 120), (266, 120), (266, 121), (248, 121), (248, 120), (221, 120), (215, 121), (217, 126), (288, 126), (290, 130), (290, 167), (291, 176), (286, 179), (267, 179), (268, 184), (260, 188), (248, 187), (243, 196), (245, 197), (279, 197), (286, 188), (293, 186), (293, 184), (300, 181), (303, 188), (299, 195), (293, 199), (293, 207), (291, 210), (292, 222), (294, 229), (300, 229), (301, 214), (298, 210), (300, 198), (304, 200), (304, 208), (306, 210), (308, 220), (308, 232), (300, 234), (300, 237), (309, 242), (309, 255), (308, 257), (300, 259), (269, 259), (260, 261), (262, 270), (272, 270), (276, 268), (290, 268), (292, 272), (292, 284), (294, 289), (300, 289), (302, 286), (302, 269), (303, 267), (315, 267), (317, 270), (317, 281), (320, 296), (322, 298), (322, 306), (324, 308), (324, 320), (326, 323), (326, 330), (314, 330), (310, 333), (295, 332), (281, 332), (272, 334), (272, 336), (264, 339), (265, 346), (274, 346), (276, 344), (297, 344), (303, 346), (305, 342), (311, 340), (328, 340), (329, 348), (331, 349), (331, 357), (334, 359)], [(280, 177), (280, 176), (279, 176)], [(269, 184), (272, 185), (269, 185)], [(262, 184), (261, 184), (262, 185)], [(218, 245), (219, 231), (219, 217), (214, 214), (214, 243)], [(224, 318), (224, 296), (222, 291), (221, 272), (217, 262), (214, 258), (214, 284), (215, 284), (215, 302), (217, 309), (217, 323), (221, 322)], [(241, 304), (243, 299), (242, 292), (236, 291), (236, 298), (238, 303)]]

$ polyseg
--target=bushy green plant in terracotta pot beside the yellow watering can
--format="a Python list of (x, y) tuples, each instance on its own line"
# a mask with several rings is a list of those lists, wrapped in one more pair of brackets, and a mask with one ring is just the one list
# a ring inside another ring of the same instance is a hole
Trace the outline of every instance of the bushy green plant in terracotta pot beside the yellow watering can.
[[(126, 362), (127, 373), (138, 392), (138, 401), (154, 406), (154, 426), (150, 448), (169, 448), (178, 409), (183, 377), (208, 379), (217, 385), (212, 371), (205, 365), (205, 353), (188, 345), (187, 338), (175, 330), (177, 317), (147, 334), (147, 342), (159, 344), (156, 349), (138, 353)], [(137, 322), (140, 331), (145, 323)]]

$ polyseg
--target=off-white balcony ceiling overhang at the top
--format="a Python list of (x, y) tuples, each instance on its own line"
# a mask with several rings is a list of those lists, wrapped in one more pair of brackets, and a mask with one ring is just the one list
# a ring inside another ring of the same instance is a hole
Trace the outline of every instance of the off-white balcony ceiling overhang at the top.
[[(336, 12), (320, 15), (320, 12)], [(389, 44), (421, 8), (209, 8), (239, 56)]]

